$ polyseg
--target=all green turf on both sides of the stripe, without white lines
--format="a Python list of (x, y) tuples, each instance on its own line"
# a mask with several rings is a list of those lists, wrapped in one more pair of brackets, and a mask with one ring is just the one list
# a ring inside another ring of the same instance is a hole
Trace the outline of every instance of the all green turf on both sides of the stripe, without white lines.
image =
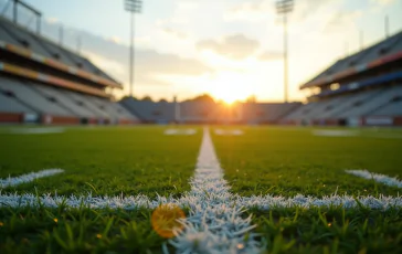
[[(166, 136), (172, 127), (66, 128), (45, 135), (0, 128), (0, 179), (61, 168), (65, 172), (0, 189), (4, 193), (180, 197), (190, 189), (201, 144)], [(240, 136), (215, 129), (241, 129)], [(399, 195), (400, 189), (345, 172), (368, 169), (402, 174), (399, 129), (334, 129), (346, 137), (316, 136), (314, 128), (210, 127), (231, 192), (240, 195)], [(349, 136), (350, 131), (353, 135)], [(186, 211), (186, 210), (184, 210)], [(0, 253), (160, 253), (151, 210), (7, 208), (0, 200)], [(402, 211), (251, 208), (266, 253), (402, 253)], [(170, 247), (171, 253), (174, 252)]]

